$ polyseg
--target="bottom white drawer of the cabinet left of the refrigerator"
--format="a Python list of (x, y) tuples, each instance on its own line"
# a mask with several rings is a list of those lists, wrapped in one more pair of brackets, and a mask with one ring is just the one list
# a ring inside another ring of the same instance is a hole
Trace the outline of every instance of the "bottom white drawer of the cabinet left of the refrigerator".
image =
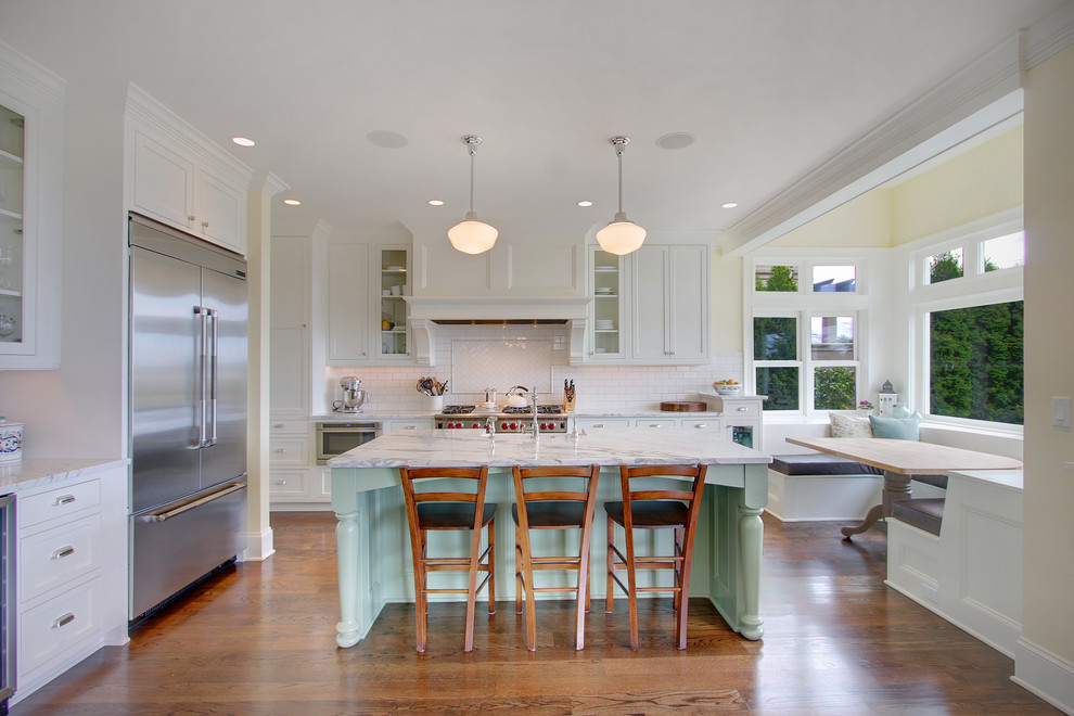
[(97, 615), (101, 580), (75, 587), (18, 617), (18, 673), (26, 678), (64, 652), (77, 651), (100, 631)]

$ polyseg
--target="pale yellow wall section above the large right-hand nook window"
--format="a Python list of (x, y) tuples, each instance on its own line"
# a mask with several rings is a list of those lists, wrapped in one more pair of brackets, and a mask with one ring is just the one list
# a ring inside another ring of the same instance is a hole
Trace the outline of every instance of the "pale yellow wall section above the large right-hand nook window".
[(892, 190), (895, 244), (1022, 205), (1022, 127)]

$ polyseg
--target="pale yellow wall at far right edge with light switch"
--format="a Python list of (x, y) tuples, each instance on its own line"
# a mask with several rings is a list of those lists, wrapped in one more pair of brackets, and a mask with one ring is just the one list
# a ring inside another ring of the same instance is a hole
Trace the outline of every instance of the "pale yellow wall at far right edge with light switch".
[(1074, 662), (1074, 433), (1051, 396), (1074, 396), (1074, 46), (1025, 92), (1025, 495), (1023, 637)]

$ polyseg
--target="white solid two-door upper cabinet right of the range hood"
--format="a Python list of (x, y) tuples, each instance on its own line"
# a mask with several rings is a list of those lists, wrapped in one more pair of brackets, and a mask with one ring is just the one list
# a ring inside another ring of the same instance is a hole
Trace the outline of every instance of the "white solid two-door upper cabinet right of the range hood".
[(708, 361), (708, 248), (642, 246), (630, 255), (630, 354), (638, 362)]

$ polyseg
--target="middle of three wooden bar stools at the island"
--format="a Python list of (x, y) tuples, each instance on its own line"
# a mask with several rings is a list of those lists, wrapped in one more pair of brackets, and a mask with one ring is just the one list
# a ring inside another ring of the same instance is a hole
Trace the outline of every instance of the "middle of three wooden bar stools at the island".
[[(597, 507), (597, 480), (600, 465), (588, 468), (520, 468), (515, 465), (514, 495), (517, 502), (511, 506), (514, 516), (515, 551), (515, 612), (522, 613), (522, 597), (526, 598), (526, 647), (537, 651), (537, 616), (535, 594), (539, 591), (575, 592), (575, 649), (586, 645), (586, 612), (589, 611), (589, 544), (593, 532), (593, 512)], [(563, 478), (581, 478), (583, 490), (534, 489), (546, 482)], [(532, 482), (530, 482), (532, 481)], [(528, 485), (526, 483), (529, 483)], [(528, 489), (527, 489), (528, 488)], [(581, 540), (575, 555), (534, 557), (529, 544), (530, 529), (580, 529)], [(574, 587), (537, 587), (535, 570), (577, 570), (578, 583)]]

